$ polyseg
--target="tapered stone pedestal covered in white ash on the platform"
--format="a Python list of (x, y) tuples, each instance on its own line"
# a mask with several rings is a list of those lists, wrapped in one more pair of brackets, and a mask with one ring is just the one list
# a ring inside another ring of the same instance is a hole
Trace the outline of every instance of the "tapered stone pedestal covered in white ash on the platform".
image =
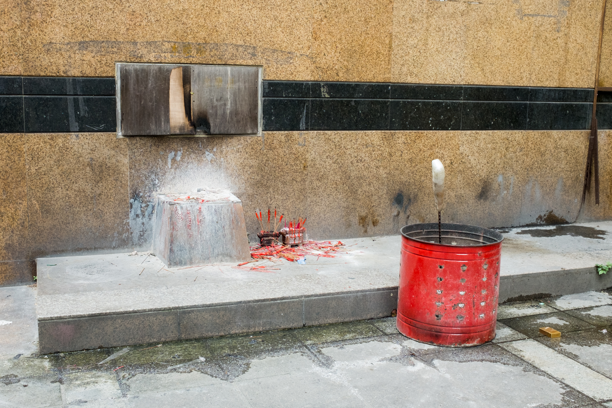
[(169, 268), (250, 259), (242, 202), (229, 191), (157, 196), (153, 251)]

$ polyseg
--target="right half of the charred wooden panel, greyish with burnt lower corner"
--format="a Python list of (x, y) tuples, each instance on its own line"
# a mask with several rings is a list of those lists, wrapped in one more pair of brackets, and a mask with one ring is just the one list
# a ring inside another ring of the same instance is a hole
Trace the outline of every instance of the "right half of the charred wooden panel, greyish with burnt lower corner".
[(258, 132), (257, 67), (191, 66), (192, 119), (212, 135)]

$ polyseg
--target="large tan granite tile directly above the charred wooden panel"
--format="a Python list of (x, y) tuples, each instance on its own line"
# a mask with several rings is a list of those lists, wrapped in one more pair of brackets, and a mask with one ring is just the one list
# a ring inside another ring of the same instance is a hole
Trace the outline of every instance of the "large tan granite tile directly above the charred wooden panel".
[(28, 3), (24, 14), (26, 75), (110, 77), (115, 61), (264, 65), (274, 78), (288, 79), (308, 78), (310, 69), (306, 0), (291, 7), (280, 0), (71, 7), (52, 0)]

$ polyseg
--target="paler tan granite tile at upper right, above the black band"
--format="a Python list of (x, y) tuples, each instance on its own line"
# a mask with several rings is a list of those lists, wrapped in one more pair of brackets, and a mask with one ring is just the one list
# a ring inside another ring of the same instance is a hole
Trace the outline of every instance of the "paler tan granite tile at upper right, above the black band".
[(590, 87), (600, 9), (599, 1), (395, 3), (392, 81)]

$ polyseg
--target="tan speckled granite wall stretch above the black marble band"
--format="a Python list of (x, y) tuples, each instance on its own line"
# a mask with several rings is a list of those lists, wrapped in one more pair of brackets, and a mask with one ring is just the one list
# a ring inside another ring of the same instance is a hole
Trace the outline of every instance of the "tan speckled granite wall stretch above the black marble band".
[(0, 75), (193, 62), (270, 80), (592, 87), (602, 1), (7, 0)]

